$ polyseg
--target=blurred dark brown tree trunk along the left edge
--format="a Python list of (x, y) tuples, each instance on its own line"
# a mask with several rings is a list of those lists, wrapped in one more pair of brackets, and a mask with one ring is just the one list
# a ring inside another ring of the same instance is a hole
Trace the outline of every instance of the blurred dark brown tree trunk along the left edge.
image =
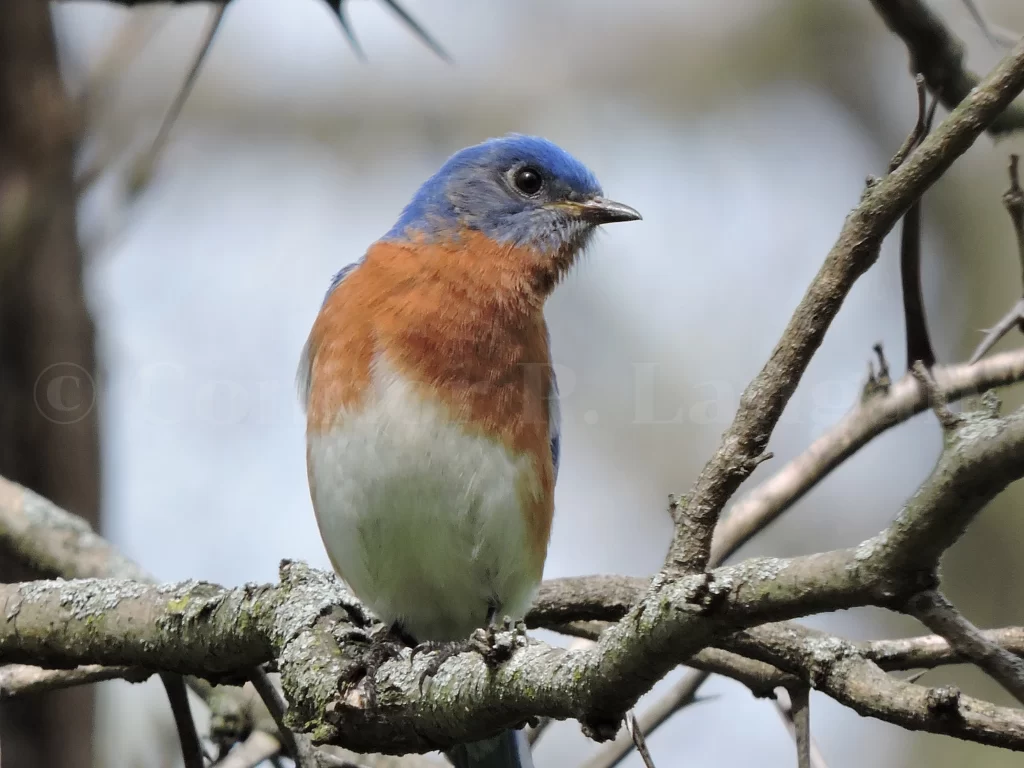
[[(0, 473), (99, 516), (92, 319), (75, 224), (76, 120), (49, 3), (0, 13)], [(0, 581), (31, 577), (0, 550)], [(3, 768), (88, 768), (87, 688), (0, 707)]]

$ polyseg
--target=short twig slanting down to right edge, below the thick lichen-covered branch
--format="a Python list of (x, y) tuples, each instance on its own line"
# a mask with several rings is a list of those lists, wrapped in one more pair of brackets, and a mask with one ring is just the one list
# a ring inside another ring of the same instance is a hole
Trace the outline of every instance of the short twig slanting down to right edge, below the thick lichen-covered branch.
[(907, 612), (949, 641), (999, 685), (1024, 703), (1024, 659), (985, 637), (941, 593), (928, 590), (907, 603)]

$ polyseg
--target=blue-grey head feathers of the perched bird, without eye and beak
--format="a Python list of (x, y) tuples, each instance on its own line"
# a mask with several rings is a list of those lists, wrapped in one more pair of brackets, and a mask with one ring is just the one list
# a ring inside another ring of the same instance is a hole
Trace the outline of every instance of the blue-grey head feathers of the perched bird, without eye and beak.
[[(539, 171), (536, 196), (516, 190), (512, 179), (524, 167)], [(600, 196), (593, 173), (557, 144), (538, 136), (510, 134), (453, 155), (406, 206), (385, 240), (457, 238), (465, 229), (492, 240), (540, 251), (575, 250), (593, 225), (552, 207)]]

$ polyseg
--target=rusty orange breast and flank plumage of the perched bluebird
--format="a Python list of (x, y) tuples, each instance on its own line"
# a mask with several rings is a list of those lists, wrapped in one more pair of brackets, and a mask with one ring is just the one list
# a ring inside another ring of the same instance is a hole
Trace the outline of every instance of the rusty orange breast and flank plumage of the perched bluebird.
[(458, 245), (375, 245), (310, 333), (307, 403), (307, 430), (331, 429), (370, 396), (371, 367), (384, 353), (467, 432), (532, 457), (536, 478), (524, 478), (520, 498), (539, 568), (554, 505), (544, 275), (538, 255), (476, 233)]

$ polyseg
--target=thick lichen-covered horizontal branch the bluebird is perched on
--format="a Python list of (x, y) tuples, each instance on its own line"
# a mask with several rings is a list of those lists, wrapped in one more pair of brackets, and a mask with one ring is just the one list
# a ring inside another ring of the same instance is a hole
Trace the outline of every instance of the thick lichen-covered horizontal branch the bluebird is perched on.
[[(593, 651), (525, 643), (497, 672), (472, 654), (460, 656), (441, 668), (430, 686), (436, 696), (427, 700), (414, 685), (429, 665), (424, 656), (409, 665), (404, 659), (387, 664), (375, 682), (378, 691), (390, 694), (385, 698), (389, 718), (365, 711), (359, 684), (339, 698), (337, 680), (345, 670), (359, 669), (365, 647), (339, 644), (337, 638), (364, 628), (344, 610), (352, 598), (335, 580), (295, 565), (285, 567), (279, 588), (225, 591), (195, 583), (156, 587), (97, 581), (4, 587), (0, 659), (53, 666), (98, 662), (217, 675), (237, 674), (276, 656), (291, 722), (319, 738), (367, 751), (382, 743), (395, 750), (436, 749), (535, 715), (572, 717), (610, 730), (653, 681), (714, 644), (717, 635), (820, 610), (895, 605), (929, 587), (938, 554), (1022, 472), (1024, 413), (1005, 419), (965, 417), (921, 492), (889, 529), (859, 547), (754, 559), (679, 579), (654, 599), (646, 593), (640, 617), (610, 627)], [(23, 517), (27, 509), (45, 509), (14, 506)], [(620, 604), (609, 611), (614, 615), (629, 603), (628, 592), (641, 589), (632, 580), (597, 583), (617, 595)], [(549, 603), (559, 592), (569, 599), (568, 584), (557, 583), (547, 594)], [(596, 593), (593, 585), (583, 590), (581, 607), (601, 617)], [(545, 610), (549, 617), (568, 615), (550, 604)], [(62, 629), (54, 632), (54, 627)], [(645, 641), (647, 650), (635, 653)], [(468, 717), (455, 718), (456, 712)], [(396, 732), (411, 740), (395, 741)]]

